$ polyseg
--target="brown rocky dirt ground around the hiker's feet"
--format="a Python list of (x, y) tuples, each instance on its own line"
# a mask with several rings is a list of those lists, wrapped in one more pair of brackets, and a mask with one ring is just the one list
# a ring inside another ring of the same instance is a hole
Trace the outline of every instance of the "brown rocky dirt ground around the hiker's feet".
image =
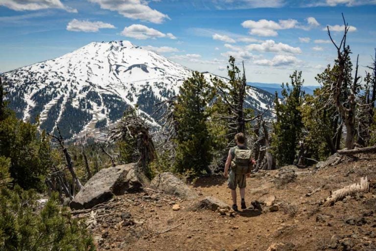
[[(371, 180), (370, 192), (320, 205), (330, 191), (364, 176)], [(151, 188), (73, 214), (87, 218), (98, 250), (374, 251), (375, 180), (376, 154), (368, 154), (320, 169), (260, 171), (247, 179), (249, 207), (235, 214), (202, 209), (197, 200)], [(222, 176), (199, 178), (190, 188), (199, 200), (212, 196), (232, 204)]]

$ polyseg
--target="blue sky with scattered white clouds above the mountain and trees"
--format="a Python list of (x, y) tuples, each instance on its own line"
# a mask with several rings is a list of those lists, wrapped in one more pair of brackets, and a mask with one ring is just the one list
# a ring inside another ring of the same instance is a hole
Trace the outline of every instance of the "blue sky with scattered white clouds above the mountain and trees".
[[(376, 47), (376, 0), (0, 0), (0, 72), (61, 56), (93, 41), (129, 40), (193, 70), (226, 75), (229, 55), (248, 81), (306, 84), (335, 59), (326, 31), (360, 54)], [(363, 74), (364, 75), (364, 74)]]

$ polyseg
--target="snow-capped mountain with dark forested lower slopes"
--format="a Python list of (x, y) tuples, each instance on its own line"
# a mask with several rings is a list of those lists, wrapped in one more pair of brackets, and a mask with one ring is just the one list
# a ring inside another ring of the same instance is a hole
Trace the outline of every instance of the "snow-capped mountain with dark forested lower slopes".
[[(59, 58), (2, 74), (9, 106), (48, 132), (59, 125), (71, 138), (118, 120), (138, 105), (151, 123), (154, 104), (179, 92), (192, 70), (129, 41), (90, 43)], [(210, 74), (205, 73), (209, 80)], [(247, 106), (263, 111), (273, 95), (251, 87)]]

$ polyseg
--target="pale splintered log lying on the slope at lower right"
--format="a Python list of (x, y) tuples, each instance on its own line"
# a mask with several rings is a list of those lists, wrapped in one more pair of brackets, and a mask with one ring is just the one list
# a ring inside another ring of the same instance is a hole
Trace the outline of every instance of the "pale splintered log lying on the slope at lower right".
[(324, 206), (333, 205), (337, 201), (343, 200), (346, 196), (359, 192), (368, 192), (370, 190), (370, 181), (368, 177), (361, 177), (360, 183), (354, 183), (334, 191), (327, 199), (322, 201)]

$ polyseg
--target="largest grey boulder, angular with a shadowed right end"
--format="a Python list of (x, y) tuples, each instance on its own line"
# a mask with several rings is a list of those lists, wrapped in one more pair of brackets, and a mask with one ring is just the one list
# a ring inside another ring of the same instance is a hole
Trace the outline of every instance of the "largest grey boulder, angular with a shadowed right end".
[(92, 208), (114, 195), (139, 190), (142, 182), (135, 173), (135, 166), (131, 163), (100, 170), (71, 201), (71, 209)]

